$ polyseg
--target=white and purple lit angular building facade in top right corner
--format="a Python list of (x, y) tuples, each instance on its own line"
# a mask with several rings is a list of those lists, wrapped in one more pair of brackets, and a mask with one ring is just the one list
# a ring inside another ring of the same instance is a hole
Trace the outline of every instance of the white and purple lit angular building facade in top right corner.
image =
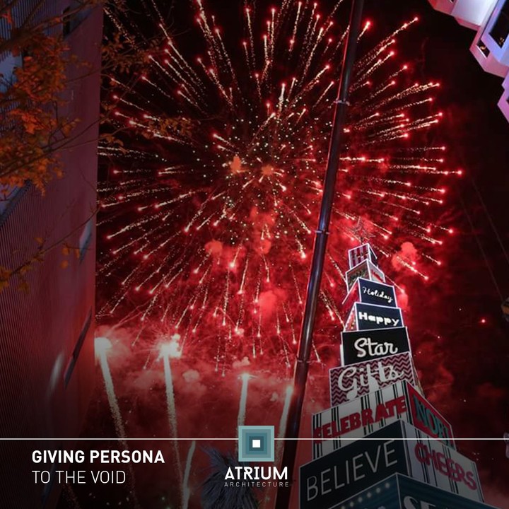
[(476, 30), (470, 52), (484, 71), (503, 78), (498, 107), (509, 121), (509, 0), (429, 0), (437, 11)]

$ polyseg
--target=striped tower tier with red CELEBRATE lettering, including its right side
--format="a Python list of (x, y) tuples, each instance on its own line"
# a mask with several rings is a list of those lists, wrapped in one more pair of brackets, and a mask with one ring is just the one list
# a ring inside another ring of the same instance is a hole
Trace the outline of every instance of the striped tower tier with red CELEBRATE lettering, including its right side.
[(454, 445), (450, 424), (414, 387), (401, 381), (314, 414), (313, 457), (334, 452), (398, 419), (447, 445)]

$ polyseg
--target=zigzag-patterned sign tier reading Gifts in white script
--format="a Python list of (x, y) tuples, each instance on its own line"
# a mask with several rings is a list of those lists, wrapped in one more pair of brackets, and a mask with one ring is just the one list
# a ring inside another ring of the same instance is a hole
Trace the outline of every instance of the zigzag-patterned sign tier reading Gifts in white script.
[(409, 352), (332, 368), (329, 370), (331, 406), (346, 403), (401, 380), (417, 385)]

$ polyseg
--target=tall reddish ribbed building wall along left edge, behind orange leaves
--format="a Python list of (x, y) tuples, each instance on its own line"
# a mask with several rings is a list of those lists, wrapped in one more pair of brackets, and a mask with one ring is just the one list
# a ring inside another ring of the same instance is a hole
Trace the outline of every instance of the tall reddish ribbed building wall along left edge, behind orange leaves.
[[(16, 288), (16, 279), (0, 293), (0, 437), (55, 438), (0, 440), (5, 508), (55, 505), (59, 488), (45, 491), (34, 484), (31, 471), (42, 467), (31, 462), (31, 452), (73, 445), (56, 439), (78, 436), (93, 389), (102, 24), (103, 13), (94, 8), (66, 37), (71, 53), (92, 66), (68, 72), (67, 109), (80, 122), (78, 138), (60, 154), (64, 177), (52, 181), (44, 197), (27, 186), (0, 209), (0, 265), (16, 267), (30, 258), (37, 250), (35, 238), (55, 245), (28, 273), (28, 293)], [(81, 245), (81, 257), (64, 255), (64, 239), (72, 247)], [(66, 268), (64, 260), (69, 261)]]

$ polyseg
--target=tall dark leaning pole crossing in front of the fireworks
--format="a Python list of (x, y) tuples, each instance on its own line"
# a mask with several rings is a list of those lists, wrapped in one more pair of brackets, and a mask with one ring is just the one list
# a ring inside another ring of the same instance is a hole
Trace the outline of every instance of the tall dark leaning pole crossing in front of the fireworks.
[[(353, 62), (357, 40), (361, 32), (361, 17), (364, 0), (352, 0), (350, 13), (350, 28), (341, 67), (339, 90), (334, 109), (334, 122), (329, 146), (327, 170), (325, 171), (322, 205), (320, 206), (320, 218), (313, 247), (310, 278), (308, 281), (308, 293), (306, 294), (305, 310), (302, 327), (300, 329), (300, 342), (297, 355), (297, 363), (293, 378), (293, 395), (288, 411), (286, 425), (285, 444), (283, 450), (283, 467), (288, 467), (288, 474), (293, 476), (297, 453), (297, 438), (300, 428), (300, 416), (304, 402), (305, 385), (308, 380), (308, 369), (312, 346), (312, 333), (315, 327), (315, 315), (322, 281), (322, 271), (327, 247), (327, 235), (329, 235), (329, 223), (334, 201), (334, 189), (336, 187), (336, 175), (339, 166), (339, 152), (341, 149), (341, 136), (344, 130), (346, 110), (349, 106), (348, 95), (350, 80), (353, 71)], [(292, 483), (290, 483), (291, 486)], [(289, 509), (291, 487), (279, 488), (276, 498), (276, 509)]]

